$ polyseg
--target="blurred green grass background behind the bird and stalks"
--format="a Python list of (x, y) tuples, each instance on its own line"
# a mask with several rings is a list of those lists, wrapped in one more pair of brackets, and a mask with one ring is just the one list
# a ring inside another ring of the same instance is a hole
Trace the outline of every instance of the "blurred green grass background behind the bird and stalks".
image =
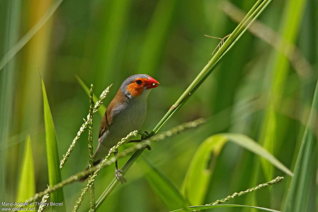
[[(31, 135), (36, 192), (48, 184), (39, 72), (46, 86), (60, 158), (89, 109), (88, 96), (75, 75), (87, 86), (92, 83), (98, 96), (114, 83), (105, 106), (130, 75), (145, 73), (158, 80), (160, 86), (149, 95), (148, 113), (142, 127), (151, 131), (211, 58), (219, 40), (204, 34), (223, 38), (236, 27), (222, 11), (225, 7), (222, 2), (63, 1), (30, 42), (0, 70), (1, 201), (16, 199), (27, 134)], [(298, 3), (293, 5), (295, 2)], [(49, 0), (0, 2), (0, 58), (37, 23), (52, 3)], [(234, 0), (232, 3), (247, 12), (255, 1)], [(287, 42), (295, 44), (311, 68), (301, 66), (296, 72), (285, 56), (246, 32), (163, 130), (199, 117), (207, 118), (207, 123), (154, 143), (151, 151), (144, 151), (143, 155), (178, 188), (197, 147), (207, 137), (220, 132), (251, 137), (293, 170), (317, 80), (317, 4), (316, 0), (275, 0), (259, 18)], [(290, 10), (293, 7), (297, 8), (295, 13)], [(99, 113), (95, 114), (95, 148), (101, 118)], [(121, 158), (119, 166), (128, 158)], [(144, 177), (147, 170), (141, 160), (139, 158), (125, 175), (128, 182), (115, 188), (100, 211), (168, 210), (147, 183)], [(259, 161), (259, 156), (227, 143), (217, 159), (204, 204), (266, 182), (268, 175), (259, 167)], [(85, 132), (62, 170), (62, 179), (84, 170), (87, 163)], [(273, 168), (270, 175), (286, 178), (270, 189), (236, 198), (229, 204), (249, 203), (280, 210), (290, 177), (277, 168)], [(113, 177), (114, 165), (101, 170), (95, 181), (96, 197)], [(312, 181), (310, 197), (315, 202), (317, 189), (315, 179)], [(78, 182), (64, 188), (67, 211), (72, 209), (81, 188)], [(309, 204), (307, 211), (316, 211), (316, 207)], [(89, 195), (86, 195), (79, 211), (88, 208)], [(243, 211), (240, 208), (210, 210)]]

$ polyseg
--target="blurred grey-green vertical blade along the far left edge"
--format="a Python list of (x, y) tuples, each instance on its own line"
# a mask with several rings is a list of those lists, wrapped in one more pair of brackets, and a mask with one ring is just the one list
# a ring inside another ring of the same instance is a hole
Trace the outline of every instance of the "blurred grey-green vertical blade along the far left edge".
[[(9, 51), (17, 41), (20, 31), (21, 1), (7, 1), (3, 7), (0, 6), (0, 18), (3, 28), (0, 33), (0, 55)], [(1, 26), (1, 24), (0, 24)], [(12, 126), (13, 99), (15, 74), (17, 73), (17, 59), (11, 60), (1, 72), (0, 69), (0, 199), (9, 200), (10, 194), (6, 193), (10, 187), (6, 182), (7, 155), (6, 149), (9, 145), (10, 126)], [(9, 161), (10, 162), (10, 159)], [(13, 193), (13, 192), (12, 192)]]

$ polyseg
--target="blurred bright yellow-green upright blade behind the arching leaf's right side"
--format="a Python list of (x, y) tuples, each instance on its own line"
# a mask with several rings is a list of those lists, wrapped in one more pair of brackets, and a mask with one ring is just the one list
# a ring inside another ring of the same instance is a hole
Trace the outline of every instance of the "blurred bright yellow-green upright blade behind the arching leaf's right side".
[[(291, 0), (287, 1), (286, 9), (284, 11), (284, 19), (281, 25), (282, 38), (289, 43), (295, 43), (299, 24), (301, 22), (301, 16), (304, 10), (305, 0)], [(283, 43), (279, 44), (283, 48)], [(270, 152), (274, 152), (274, 146), (280, 146), (281, 140), (277, 140), (278, 134), (284, 134), (285, 132), (276, 132), (276, 114), (275, 108), (280, 107), (281, 93), (283, 93), (285, 81), (289, 70), (289, 61), (280, 52), (275, 52), (273, 70), (272, 70), (272, 83), (271, 94), (268, 97), (269, 104), (266, 109), (266, 118), (263, 122), (263, 129), (261, 132), (261, 143)], [(276, 137), (277, 136), (277, 137)], [(273, 177), (273, 167), (264, 160), (261, 160), (262, 168), (266, 179)]]

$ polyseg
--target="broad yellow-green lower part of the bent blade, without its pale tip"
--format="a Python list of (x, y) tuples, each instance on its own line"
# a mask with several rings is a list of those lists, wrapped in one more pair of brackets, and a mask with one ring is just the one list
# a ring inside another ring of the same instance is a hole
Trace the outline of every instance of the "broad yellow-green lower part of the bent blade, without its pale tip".
[(203, 204), (214, 164), (226, 141), (227, 138), (223, 135), (210, 136), (202, 142), (193, 156), (180, 189), (191, 205)]

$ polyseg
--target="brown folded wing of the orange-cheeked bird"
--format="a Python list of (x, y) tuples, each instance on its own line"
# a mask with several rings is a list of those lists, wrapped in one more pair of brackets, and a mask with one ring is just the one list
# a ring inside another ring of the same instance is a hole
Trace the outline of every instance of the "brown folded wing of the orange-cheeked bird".
[(114, 99), (109, 103), (104, 117), (101, 120), (98, 138), (100, 138), (105, 133), (109, 125), (113, 123), (114, 117), (112, 116), (112, 110), (116, 108), (119, 104), (122, 104), (124, 101), (125, 96), (122, 94), (121, 89), (119, 89)]

